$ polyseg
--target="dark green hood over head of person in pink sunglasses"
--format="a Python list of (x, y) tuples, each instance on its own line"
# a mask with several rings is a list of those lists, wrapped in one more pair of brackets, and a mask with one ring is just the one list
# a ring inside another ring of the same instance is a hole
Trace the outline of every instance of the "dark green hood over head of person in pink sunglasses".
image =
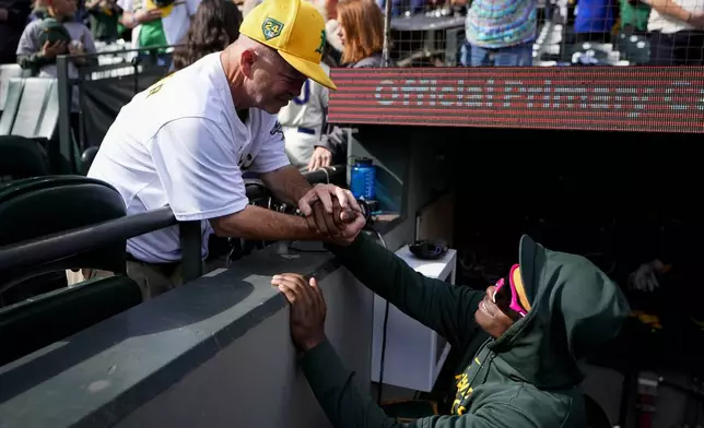
[(541, 389), (576, 385), (583, 380), (577, 361), (615, 337), (629, 304), (584, 257), (548, 250), (524, 235), (518, 259), (530, 311), (490, 347), (509, 366), (508, 376)]

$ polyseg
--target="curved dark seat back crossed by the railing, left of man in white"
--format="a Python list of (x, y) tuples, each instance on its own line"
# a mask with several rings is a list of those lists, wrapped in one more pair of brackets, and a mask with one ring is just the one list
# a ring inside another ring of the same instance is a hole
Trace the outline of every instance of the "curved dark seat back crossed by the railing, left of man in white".
[[(93, 225), (126, 215), (125, 203), (112, 186), (83, 176), (47, 176), (0, 187), (0, 247)], [(126, 241), (25, 269), (0, 266), (0, 297), (4, 305), (46, 292), (31, 281), (67, 269), (97, 269), (125, 273)], [(32, 285), (27, 285), (32, 283)], [(66, 285), (66, 281), (63, 281)], [(60, 285), (58, 285), (60, 287)], [(31, 287), (31, 289), (28, 288)]]

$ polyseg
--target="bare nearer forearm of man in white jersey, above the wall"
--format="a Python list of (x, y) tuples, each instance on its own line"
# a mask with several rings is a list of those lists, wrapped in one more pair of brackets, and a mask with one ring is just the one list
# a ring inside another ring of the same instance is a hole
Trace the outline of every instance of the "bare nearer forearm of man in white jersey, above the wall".
[(257, 240), (318, 240), (325, 237), (305, 218), (247, 205), (243, 211), (210, 221), (218, 236)]

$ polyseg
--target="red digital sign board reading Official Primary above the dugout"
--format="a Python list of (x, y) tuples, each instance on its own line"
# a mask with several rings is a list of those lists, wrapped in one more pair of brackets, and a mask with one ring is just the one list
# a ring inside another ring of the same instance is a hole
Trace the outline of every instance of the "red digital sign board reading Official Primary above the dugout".
[(704, 132), (704, 67), (335, 69), (333, 123)]

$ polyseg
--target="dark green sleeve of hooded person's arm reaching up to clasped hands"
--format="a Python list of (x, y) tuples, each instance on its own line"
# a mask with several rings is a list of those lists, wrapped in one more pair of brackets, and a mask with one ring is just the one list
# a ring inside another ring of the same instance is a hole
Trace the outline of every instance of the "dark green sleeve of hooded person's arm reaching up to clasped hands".
[(464, 347), (477, 333), (474, 311), (484, 292), (423, 276), (363, 233), (349, 247), (328, 248), (367, 288), (450, 345)]

